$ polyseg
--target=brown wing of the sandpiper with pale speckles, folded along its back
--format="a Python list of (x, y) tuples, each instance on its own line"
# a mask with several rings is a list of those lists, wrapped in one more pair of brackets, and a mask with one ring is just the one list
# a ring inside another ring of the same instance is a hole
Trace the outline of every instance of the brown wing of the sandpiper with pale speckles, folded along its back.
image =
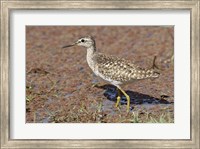
[(98, 72), (109, 79), (127, 82), (135, 79), (154, 77), (154, 70), (138, 67), (133, 62), (98, 53), (95, 57)]

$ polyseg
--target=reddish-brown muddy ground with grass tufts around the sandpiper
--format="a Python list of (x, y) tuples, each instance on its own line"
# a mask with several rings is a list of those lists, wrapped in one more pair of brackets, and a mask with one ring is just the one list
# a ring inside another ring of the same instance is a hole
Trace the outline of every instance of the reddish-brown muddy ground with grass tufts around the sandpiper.
[[(150, 68), (160, 77), (122, 86), (131, 98), (115, 107), (116, 88), (96, 77), (83, 47), (61, 47), (91, 35), (97, 50)], [(27, 123), (173, 123), (174, 49), (171, 26), (27, 26)], [(99, 83), (100, 87), (94, 84)]]

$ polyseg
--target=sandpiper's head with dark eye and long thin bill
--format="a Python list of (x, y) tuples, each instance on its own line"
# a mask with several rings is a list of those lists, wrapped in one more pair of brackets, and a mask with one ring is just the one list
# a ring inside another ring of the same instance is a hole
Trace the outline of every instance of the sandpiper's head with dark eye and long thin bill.
[(95, 40), (93, 39), (92, 36), (87, 36), (87, 37), (78, 39), (76, 42), (74, 42), (71, 45), (63, 46), (63, 48), (67, 48), (67, 47), (71, 47), (75, 45), (89, 48), (89, 47), (95, 46)]

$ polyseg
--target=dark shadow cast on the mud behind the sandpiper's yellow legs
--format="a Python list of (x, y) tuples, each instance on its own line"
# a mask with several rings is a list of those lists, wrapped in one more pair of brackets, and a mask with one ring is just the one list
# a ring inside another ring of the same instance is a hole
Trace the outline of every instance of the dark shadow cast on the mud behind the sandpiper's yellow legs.
[[(104, 89), (104, 96), (110, 100), (116, 102), (117, 97), (117, 88), (114, 85), (102, 85), (102, 86), (96, 86), (97, 88)], [(125, 91), (129, 97), (130, 97), (130, 103), (131, 104), (171, 104), (173, 102), (169, 102), (165, 100), (164, 98), (155, 98), (146, 94), (133, 92), (130, 90)], [(168, 96), (166, 96), (168, 98)], [(126, 97), (124, 95), (121, 95), (121, 104), (127, 104)]]

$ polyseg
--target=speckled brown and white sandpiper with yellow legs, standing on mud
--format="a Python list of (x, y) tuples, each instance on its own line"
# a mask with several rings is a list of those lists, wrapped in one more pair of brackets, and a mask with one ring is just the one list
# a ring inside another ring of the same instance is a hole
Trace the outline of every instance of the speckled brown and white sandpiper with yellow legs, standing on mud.
[[(121, 99), (120, 93), (123, 93), (127, 99), (127, 111), (130, 109), (130, 97), (120, 85), (136, 80), (157, 78), (159, 76), (159, 72), (155, 71), (153, 67), (150, 69), (143, 69), (135, 65), (134, 62), (97, 52), (95, 40), (91, 36), (80, 38), (71, 45), (63, 46), (63, 48), (75, 45), (87, 48), (87, 63), (95, 75), (117, 87), (118, 95), (115, 104), (116, 107), (118, 107)], [(155, 58), (153, 65), (154, 64)]]

